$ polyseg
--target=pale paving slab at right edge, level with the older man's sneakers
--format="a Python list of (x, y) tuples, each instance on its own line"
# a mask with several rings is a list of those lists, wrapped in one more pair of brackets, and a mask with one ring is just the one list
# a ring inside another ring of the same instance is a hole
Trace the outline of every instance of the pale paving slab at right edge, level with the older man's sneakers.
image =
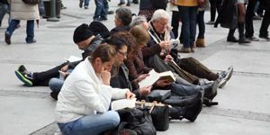
[[(235, 71), (270, 74), (269, 52), (244, 52), (220, 50), (202, 61), (211, 69), (226, 69), (233, 65)], [(258, 67), (261, 67), (258, 69)]]

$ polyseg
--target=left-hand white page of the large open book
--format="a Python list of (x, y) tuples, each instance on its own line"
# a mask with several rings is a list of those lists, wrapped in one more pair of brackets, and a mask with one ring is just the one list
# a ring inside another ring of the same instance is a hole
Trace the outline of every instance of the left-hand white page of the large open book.
[(159, 78), (159, 73), (157, 73), (154, 69), (152, 69), (145, 79), (141, 80), (139, 82), (139, 87), (143, 87), (143, 86), (149, 86), (149, 85), (153, 85)]

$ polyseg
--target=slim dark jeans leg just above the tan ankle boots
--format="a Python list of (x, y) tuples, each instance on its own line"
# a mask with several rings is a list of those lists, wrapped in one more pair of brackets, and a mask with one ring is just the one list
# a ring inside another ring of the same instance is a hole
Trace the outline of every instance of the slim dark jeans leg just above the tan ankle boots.
[(197, 23), (199, 26), (199, 33), (197, 39), (204, 39), (205, 24), (204, 24), (204, 11), (199, 11), (197, 15)]

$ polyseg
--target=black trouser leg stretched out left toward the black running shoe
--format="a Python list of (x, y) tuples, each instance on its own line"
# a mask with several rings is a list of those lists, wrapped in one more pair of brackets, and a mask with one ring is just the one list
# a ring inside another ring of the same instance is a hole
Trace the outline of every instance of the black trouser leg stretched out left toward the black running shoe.
[(59, 65), (58, 67), (53, 67), (47, 71), (33, 73), (33, 82), (32, 82), (33, 85), (48, 86), (49, 80), (52, 77), (58, 77), (59, 76), (58, 70), (60, 70), (61, 67), (64, 67), (66, 65), (67, 65), (67, 62)]

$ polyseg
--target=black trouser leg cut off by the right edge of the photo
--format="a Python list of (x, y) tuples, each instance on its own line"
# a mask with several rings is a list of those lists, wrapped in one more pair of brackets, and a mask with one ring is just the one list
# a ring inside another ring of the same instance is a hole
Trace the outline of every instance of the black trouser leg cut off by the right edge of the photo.
[(261, 24), (261, 28), (260, 28), (260, 35), (262, 37), (267, 37), (268, 36), (268, 27), (270, 24), (270, 10), (266, 10), (262, 24)]

